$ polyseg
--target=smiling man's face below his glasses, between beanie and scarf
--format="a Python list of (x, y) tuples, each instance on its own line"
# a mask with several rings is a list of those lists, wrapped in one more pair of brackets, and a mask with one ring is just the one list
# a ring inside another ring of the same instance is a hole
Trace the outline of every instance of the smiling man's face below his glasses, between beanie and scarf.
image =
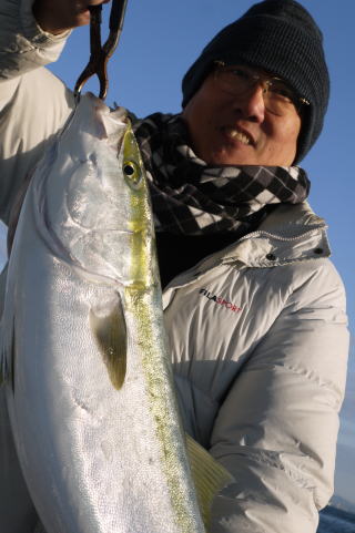
[(265, 109), (263, 88), (231, 94), (210, 74), (182, 113), (197, 157), (210, 165), (292, 165), (301, 117)]

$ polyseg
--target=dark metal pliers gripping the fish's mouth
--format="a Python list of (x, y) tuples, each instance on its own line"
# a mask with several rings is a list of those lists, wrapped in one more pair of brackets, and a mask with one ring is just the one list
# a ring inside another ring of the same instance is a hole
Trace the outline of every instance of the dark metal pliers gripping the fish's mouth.
[(99, 98), (104, 100), (108, 94), (108, 62), (113, 54), (122, 32), (123, 19), (128, 0), (112, 0), (109, 22), (109, 38), (101, 45), (102, 6), (90, 6), (90, 60), (75, 83), (74, 96), (80, 99), (81, 90), (87, 81), (97, 74), (100, 82)]

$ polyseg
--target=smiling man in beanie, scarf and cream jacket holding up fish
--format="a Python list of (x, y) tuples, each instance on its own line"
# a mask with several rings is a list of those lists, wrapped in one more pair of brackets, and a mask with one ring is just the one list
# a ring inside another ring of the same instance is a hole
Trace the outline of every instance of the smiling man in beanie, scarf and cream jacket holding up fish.
[[(6, 223), (73, 106), (70, 91), (33, 68), (54, 59), (94, 3), (37, 0), (39, 28), (30, 0), (1, 0)], [(293, 0), (266, 0), (190, 68), (181, 115), (135, 124), (185, 429), (235, 478), (215, 498), (213, 533), (314, 533), (332, 494), (344, 290), (324, 222), (305, 203), (307, 176), (294, 166), (318, 137), (327, 100), (314, 20)], [(34, 516), (22, 501), (13, 532)]]

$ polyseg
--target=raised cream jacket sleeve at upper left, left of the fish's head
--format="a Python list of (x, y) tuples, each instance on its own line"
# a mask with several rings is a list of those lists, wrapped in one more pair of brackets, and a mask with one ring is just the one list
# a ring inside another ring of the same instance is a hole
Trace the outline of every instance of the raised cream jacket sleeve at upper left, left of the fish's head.
[(68, 34), (41, 31), (33, 0), (0, 0), (0, 218), (51, 136), (63, 125), (73, 96), (44, 64), (55, 61)]

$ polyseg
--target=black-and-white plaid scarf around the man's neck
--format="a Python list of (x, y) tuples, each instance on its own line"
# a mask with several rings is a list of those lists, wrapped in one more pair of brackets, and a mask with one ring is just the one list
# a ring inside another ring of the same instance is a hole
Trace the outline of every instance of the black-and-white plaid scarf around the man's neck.
[(156, 230), (183, 235), (253, 230), (272, 204), (303, 202), (306, 173), (284, 166), (210, 166), (187, 146), (181, 115), (134, 125), (150, 182)]

